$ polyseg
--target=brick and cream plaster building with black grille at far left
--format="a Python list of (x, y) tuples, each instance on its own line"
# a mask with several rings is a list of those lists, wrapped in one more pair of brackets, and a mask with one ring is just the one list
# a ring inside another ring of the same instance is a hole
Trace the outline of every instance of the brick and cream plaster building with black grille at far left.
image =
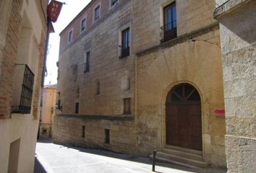
[(46, 1), (0, 1), (0, 172), (33, 172)]

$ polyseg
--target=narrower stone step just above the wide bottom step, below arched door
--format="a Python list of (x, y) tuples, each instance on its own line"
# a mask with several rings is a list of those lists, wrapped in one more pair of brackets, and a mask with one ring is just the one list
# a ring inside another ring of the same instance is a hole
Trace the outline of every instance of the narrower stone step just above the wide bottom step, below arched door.
[(185, 157), (187, 159), (194, 159), (197, 161), (204, 161), (202, 154), (193, 154), (193, 153), (189, 153), (189, 152), (185, 152), (185, 151), (179, 151), (179, 150), (168, 149), (168, 148), (164, 148), (163, 153), (171, 154), (171, 155), (175, 155), (175, 156), (181, 156), (181, 157)]

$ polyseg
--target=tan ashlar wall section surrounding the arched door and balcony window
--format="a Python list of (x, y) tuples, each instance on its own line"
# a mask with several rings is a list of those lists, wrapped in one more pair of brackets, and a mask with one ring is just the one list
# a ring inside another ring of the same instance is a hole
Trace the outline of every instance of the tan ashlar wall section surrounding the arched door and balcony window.
[(226, 167), (221, 45), (213, 19), (214, 1), (176, 1), (177, 38), (160, 43), (163, 7), (172, 1), (134, 4), (137, 50), (138, 151), (166, 147), (166, 97), (177, 84), (195, 86), (202, 102), (202, 152), (214, 166)]

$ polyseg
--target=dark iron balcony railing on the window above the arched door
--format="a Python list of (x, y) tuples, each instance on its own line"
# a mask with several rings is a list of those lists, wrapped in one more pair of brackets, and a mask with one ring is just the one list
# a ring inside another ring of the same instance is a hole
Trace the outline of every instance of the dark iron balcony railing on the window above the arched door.
[(161, 27), (161, 43), (177, 37), (176, 20)]

